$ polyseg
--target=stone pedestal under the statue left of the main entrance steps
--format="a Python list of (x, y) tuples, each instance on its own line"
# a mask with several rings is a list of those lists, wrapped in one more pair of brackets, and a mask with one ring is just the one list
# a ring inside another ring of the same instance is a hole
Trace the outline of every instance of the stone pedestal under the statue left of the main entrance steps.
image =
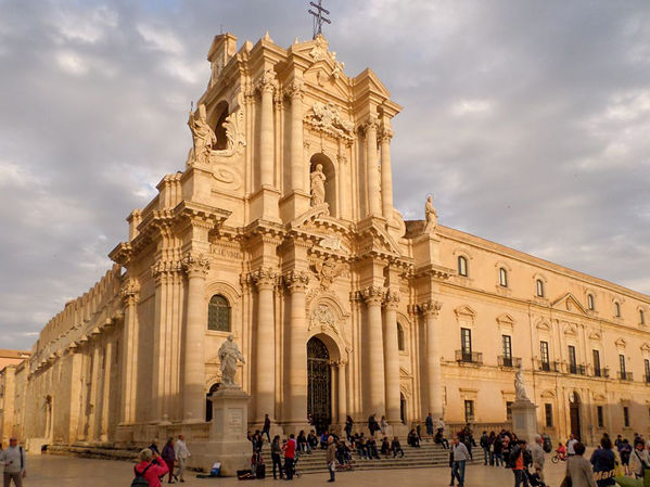
[(191, 446), (196, 466), (209, 472), (215, 462), (221, 462), (221, 475), (225, 476), (251, 467), (251, 443), (246, 439), (248, 398), (239, 386), (221, 386), (213, 393), (209, 397), (213, 405), (209, 439)]

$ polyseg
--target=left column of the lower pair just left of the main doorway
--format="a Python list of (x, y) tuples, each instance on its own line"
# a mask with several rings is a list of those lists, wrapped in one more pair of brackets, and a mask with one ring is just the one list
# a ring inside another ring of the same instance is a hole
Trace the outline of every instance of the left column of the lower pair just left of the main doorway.
[[(277, 275), (272, 269), (262, 268), (251, 274), (257, 286), (257, 329), (255, 337), (255, 418), (264, 423), (264, 415), (271, 421), (276, 418), (276, 322), (273, 311), (273, 289)], [(254, 322), (255, 322), (254, 321)]]

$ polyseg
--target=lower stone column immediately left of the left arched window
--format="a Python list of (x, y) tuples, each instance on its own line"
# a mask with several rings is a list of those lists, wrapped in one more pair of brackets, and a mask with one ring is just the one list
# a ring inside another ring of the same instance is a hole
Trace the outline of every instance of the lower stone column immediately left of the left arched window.
[(183, 422), (199, 423), (205, 421), (205, 277), (209, 270), (209, 261), (202, 254), (190, 253), (181, 264), (188, 277), (186, 333), (182, 342)]

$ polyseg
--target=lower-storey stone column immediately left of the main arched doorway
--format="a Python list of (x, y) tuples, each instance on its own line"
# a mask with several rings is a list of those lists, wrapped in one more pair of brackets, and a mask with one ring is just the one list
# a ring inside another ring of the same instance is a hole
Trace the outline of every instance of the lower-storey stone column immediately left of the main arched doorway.
[(307, 272), (292, 270), (284, 275), (291, 293), (289, 325), (289, 396), (285, 398), (288, 418), (293, 424), (305, 423), (307, 418), (307, 323), (305, 291), (309, 283)]

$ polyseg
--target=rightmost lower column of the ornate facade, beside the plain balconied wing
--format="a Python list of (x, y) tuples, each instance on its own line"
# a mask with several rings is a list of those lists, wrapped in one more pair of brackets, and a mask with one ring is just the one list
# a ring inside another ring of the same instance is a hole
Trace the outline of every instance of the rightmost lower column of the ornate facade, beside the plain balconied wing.
[(421, 305), (424, 316), (424, 328), (426, 330), (426, 381), (428, 381), (428, 406), (429, 411), (423, 414), (433, 413), (433, 418), (443, 415), (443, 372), (441, 369), (441, 353), (438, 342), (441, 332), (437, 330), (437, 321), (442, 304), (438, 302), (426, 302)]

